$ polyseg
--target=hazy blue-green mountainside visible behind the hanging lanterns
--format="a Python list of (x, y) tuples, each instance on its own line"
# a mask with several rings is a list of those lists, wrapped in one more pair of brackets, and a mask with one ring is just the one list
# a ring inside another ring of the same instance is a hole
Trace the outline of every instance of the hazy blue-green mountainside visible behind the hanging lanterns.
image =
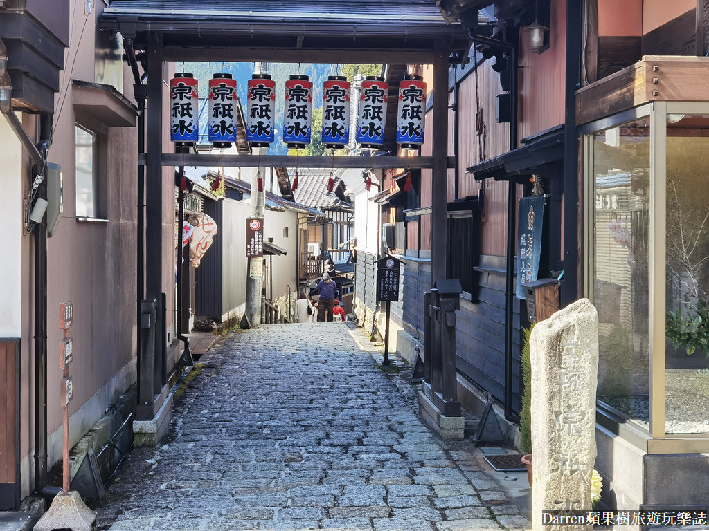
[[(271, 74), (276, 81), (276, 115), (274, 123), (276, 125), (276, 142), (267, 149), (269, 155), (285, 155), (288, 152), (286, 144), (283, 143), (281, 130), (283, 128), (283, 94), (286, 80), (291, 74), (304, 74), (313, 81), (313, 107), (320, 108), (323, 103), (323, 82), (328, 76), (335, 75), (339, 71), (340, 64), (290, 64), (290, 63), (268, 63), (266, 72)], [(241, 104), (246, 112), (246, 87), (247, 81), (251, 79), (254, 72), (253, 63), (222, 63), (222, 62), (186, 62), (177, 64), (177, 72), (190, 72), (199, 81), (200, 98), (206, 98), (207, 86), (212, 74), (231, 74), (236, 79), (236, 90)], [(351, 81), (351, 80), (350, 80)], [(206, 112), (206, 110), (204, 111)], [(200, 134), (206, 136), (206, 116), (200, 120)]]

